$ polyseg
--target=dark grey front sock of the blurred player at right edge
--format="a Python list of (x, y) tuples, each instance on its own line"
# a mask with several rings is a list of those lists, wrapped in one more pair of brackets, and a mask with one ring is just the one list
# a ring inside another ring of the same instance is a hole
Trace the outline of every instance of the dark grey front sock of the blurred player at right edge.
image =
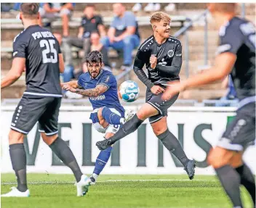
[(240, 196), (240, 176), (230, 165), (215, 169), (225, 192), (233, 203), (233, 207), (242, 207)]

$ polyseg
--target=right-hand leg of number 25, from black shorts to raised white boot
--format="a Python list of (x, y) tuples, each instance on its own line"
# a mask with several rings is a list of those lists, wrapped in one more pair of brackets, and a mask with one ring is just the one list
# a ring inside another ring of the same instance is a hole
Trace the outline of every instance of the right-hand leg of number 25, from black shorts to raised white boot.
[(87, 175), (83, 175), (68, 144), (57, 134), (57, 118), (59, 115), (60, 101), (60, 98), (52, 98), (52, 102), (39, 119), (39, 131), (49, 148), (72, 170), (76, 178), (77, 196), (84, 196), (88, 191), (89, 178)]

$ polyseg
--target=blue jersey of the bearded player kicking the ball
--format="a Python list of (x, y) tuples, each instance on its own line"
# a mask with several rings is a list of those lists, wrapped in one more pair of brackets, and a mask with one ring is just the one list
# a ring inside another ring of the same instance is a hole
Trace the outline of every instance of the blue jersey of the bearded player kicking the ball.
[(96, 88), (98, 85), (107, 86), (108, 90), (105, 93), (100, 94), (97, 97), (89, 98), (93, 109), (100, 107), (114, 108), (121, 113), (121, 117), (124, 117), (124, 107), (119, 102), (117, 95), (117, 82), (112, 72), (107, 70), (100, 70), (100, 74), (97, 78), (91, 78), (89, 72), (80, 75), (78, 80), (79, 86), (84, 89)]

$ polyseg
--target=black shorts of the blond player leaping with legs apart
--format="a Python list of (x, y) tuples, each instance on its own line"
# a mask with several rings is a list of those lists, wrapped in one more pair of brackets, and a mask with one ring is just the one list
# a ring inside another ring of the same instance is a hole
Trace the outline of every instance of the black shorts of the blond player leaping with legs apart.
[(152, 117), (149, 117), (148, 120), (150, 123), (157, 122), (160, 120), (162, 117), (167, 116), (167, 111), (169, 107), (172, 106), (172, 104), (175, 103), (177, 100), (177, 97), (179, 96), (178, 94), (169, 101), (163, 101), (161, 99), (162, 93), (159, 95), (154, 95), (149, 88), (147, 88), (147, 92), (145, 94), (145, 101), (148, 104), (151, 104), (154, 108), (156, 108), (159, 112), (158, 115), (154, 115)]

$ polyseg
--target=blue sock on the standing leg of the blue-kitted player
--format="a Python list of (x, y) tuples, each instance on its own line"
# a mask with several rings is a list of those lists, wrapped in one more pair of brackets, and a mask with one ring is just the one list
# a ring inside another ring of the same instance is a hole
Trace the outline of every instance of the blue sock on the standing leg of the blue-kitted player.
[(111, 157), (112, 146), (109, 146), (107, 149), (100, 151), (100, 154), (97, 156), (95, 162), (95, 170), (93, 173), (100, 175), (100, 172), (103, 171), (103, 168), (108, 162), (109, 157)]

